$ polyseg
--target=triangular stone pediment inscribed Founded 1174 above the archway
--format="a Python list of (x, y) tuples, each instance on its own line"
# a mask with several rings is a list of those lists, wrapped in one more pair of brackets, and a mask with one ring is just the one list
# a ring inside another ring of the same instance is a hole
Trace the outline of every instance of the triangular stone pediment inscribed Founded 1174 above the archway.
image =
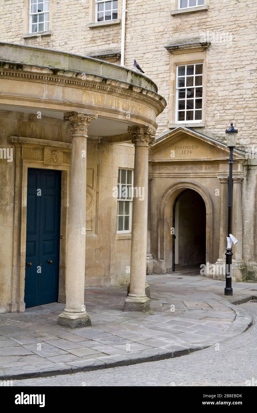
[[(226, 160), (229, 148), (222, 142), (209, 138), (189, 128), (179, 127), (159, 138), (151, 147), (149, 160), (189, 161)], [(234, 150), (233, 157), (244, 159), (244, 152)]]

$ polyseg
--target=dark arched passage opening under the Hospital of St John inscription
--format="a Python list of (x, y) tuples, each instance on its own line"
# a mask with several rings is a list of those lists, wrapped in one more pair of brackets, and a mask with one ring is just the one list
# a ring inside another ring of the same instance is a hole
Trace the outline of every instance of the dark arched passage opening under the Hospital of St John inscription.
[(178, 266), (206, 262), (206, 207), (201, 195), (185, 189), (177, 195), (172, 213), (172, 271)]

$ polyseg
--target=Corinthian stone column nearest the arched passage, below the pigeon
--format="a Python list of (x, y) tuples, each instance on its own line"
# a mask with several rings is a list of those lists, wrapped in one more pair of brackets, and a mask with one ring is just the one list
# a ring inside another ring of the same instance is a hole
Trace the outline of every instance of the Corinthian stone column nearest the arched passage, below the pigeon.
[[(135, 146), (134, 193), (144, 193), (144, 198), (134, 196), (132, 203), (132, 239), (130, 256), (130, 292), (123, 311), (148, 311), (146, 297), (146, 252), (148, 209), (148, 149), (155, 141), (155, 129), (142, 126), (128, 128)], [(141, 191), (139, 192), (139, 189)]]

